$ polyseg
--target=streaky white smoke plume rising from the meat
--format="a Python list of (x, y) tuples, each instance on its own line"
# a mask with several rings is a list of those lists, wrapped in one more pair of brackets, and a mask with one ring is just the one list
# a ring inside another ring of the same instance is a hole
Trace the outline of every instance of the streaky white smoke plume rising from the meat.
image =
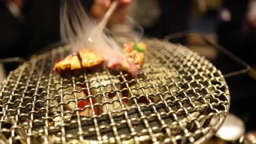
[[(86, 13), (79, 0), (62, 0), (60, 8), (60, 33), (63, 43), (72, 46), (72, 52), (92, 49), (108, 62), (119, 61), (122, 48), (104, 32), (98, 31), (97, 23)], [(88, 39), (93, 35), (93, 43)]]

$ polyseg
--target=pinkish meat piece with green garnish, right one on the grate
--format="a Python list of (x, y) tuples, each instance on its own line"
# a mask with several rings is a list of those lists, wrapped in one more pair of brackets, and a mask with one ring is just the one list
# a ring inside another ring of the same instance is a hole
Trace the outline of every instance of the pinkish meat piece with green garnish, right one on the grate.
[(120, 62), (108, 64), (108, 68), (114, 71), (124, 70), (135, 77), (142, 69), (147, 46), (144, 43), (130, 43), (123, 47), (123, 59)]

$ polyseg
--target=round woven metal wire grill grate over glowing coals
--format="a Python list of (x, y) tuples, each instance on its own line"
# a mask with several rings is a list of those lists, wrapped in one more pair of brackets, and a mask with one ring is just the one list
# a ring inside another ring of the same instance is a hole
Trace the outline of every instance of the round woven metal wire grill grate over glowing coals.
[[(190, 143), (210, 138), (230, 104), (220, 71), (184, 46), (144, 42), (149, 49), (136, 79), (109, 70), (55, 75), (54, 63), (68, 55), (68, 46), (25, 62), (1, 85), (1, 141)], [(81, 109), (83, 100), (89, 105)], [(90, 117), (80, 115), (85, 110)]]

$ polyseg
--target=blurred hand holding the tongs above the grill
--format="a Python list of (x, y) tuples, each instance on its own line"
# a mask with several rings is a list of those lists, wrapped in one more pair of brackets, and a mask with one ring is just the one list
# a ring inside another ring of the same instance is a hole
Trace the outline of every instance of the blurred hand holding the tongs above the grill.
[[(117, 0), (119, 2), (118, 8), (112, 15), (108, 22), (108, 26), (113, 23), (121, 22), (124, 20), (124, 14), (127, 13), (128, 6), (132, 3), (132, 0)], [(110, 7), (112, 0), (94, 0), (94, 4), (91, 7), (91, 15), (95, 19), (101, 19), (106, 13), (107, 9)]]

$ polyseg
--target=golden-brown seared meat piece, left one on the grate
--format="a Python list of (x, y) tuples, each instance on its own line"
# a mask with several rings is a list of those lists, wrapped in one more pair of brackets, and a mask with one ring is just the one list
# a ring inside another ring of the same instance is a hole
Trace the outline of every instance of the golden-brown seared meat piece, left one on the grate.
[(95, 69), (104, 64), (104, 58), (98, 56), (91, 50), (82, 50), (72, 55), (68, 55), (61, 61), (57, 61), (54, 70), (58, 74), (70, 73), (73, 70)]

